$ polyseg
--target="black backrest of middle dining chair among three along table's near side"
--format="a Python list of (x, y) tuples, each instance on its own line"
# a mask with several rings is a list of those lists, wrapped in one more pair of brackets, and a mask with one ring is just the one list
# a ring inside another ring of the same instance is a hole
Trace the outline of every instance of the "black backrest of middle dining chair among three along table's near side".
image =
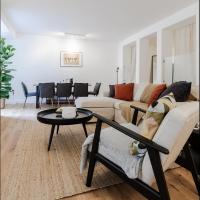
[(57, 83), (57, 97), (70, 97), (72, 94), (71, 83)]

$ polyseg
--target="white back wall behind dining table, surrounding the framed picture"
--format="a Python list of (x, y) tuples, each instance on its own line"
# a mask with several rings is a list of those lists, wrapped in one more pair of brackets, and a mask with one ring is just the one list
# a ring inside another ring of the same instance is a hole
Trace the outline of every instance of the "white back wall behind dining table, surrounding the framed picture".
[[(31, 91), (39, 82), (60, 82), (66, 78), (74, 78), (75, 82), (88, 82), (94, 85), (103, 83), (101, 91), (108, 89), (108, 84), (116, 82), (116, 67), (118, 63), (118, 45), (116, 43), (70, 40), (64, 38), (21, 35), (8, 40), (16, 48), (13, 57), (14, 97), (10, 102), (24, 100), (21, 81), (24, 81)], [(83, 52), (82, 67), (60, 67), (60, 51)], [(93, 86), (90, 88), (93, 89)], [(32, 98), (34, 101), (35, 99)]]

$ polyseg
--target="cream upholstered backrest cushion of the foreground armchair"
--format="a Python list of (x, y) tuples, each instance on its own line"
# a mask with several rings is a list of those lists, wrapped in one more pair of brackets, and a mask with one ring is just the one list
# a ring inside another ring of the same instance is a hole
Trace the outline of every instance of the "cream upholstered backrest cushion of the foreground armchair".
[[(168, 155), (160, 154), (164, 171), (175, 162), (198, 121), (199, 103), (194, 101), (179, 103), (166, 115), (153, 138), (154, 142), (170, 152)], [(153, 178), (149, 155), (146, 154), (142, 165), (142, 180), (151, 184)]]

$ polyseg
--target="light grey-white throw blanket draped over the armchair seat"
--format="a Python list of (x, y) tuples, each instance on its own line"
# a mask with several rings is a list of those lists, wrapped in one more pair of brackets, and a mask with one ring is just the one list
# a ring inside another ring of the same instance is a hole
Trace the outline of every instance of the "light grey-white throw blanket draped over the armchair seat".
[[(123, 124), (133, 129), (131, 124)], [(135, 128), (134, 128), (135, 129)], [(135, 130), (136, 131), (136, 130)], [(94, 134), (89, 135), (82, 145), (80, 173), (87, 167), (87, 153), (91, 151)], [(143, 157), (133, 156), (129, 153), (129, 145), (133, 139), (113, 129), (106, 128), (101, 132), (98, 152), (120, 166), (129, 178), (141, 177)]]

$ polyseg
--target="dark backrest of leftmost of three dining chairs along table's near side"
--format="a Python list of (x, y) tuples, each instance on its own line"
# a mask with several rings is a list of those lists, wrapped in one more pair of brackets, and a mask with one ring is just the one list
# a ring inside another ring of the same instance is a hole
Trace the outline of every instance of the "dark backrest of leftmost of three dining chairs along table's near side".
[(55, 95), (55, 83), (39, 83), (41, 98), (53, 98)]

